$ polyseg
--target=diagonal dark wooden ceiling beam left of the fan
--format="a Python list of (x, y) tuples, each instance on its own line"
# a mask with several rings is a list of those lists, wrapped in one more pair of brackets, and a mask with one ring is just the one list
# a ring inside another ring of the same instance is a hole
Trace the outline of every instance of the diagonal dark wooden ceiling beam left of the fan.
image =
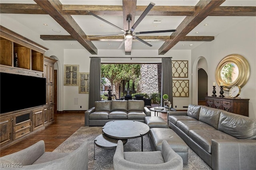
[(76, 21), (62, 11), (59, 0), (34, 0), (55, 21), (57, 21), (73, 38), (75, 38), (91, 54), (97, 54), (98, 50), (91, 41), (86, 40), (86, 34), (78, 26)]

